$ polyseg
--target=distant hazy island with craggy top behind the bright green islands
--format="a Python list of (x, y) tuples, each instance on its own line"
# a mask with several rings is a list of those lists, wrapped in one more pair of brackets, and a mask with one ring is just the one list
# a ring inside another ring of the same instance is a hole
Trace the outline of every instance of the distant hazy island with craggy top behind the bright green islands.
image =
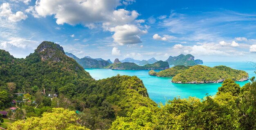
[(193, 66), (202, 64), (202, 60), (194, 60), (195, 57), (191, 54), (180, 54), (179, 56), (170, 56), (166, 62), (168, 62), (170, 65), (186, 65), (186, 66)]

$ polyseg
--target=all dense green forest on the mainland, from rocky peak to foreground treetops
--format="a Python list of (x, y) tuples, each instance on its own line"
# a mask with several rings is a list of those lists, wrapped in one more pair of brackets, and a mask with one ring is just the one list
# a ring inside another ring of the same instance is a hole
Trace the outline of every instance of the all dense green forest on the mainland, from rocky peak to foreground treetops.
[(255, 77), (243, 87), (234, 79), (228, 77), (215, 96), (157, 106), (136, 76), (94, 80), (61, 46), (44, 41), (25, 59), (0, 50), (0, 110), (18, 120), (7, 130), (254, 130)]

